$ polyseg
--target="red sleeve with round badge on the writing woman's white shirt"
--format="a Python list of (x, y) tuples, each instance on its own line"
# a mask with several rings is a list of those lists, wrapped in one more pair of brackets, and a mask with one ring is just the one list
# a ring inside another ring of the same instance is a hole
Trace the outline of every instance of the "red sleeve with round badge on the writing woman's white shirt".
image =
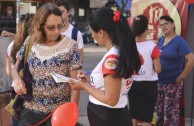
[(118, 64), (118, 56), (115, 54), (108, 55), (102, 64), (103, 76), (107, 74), (114, 74)]

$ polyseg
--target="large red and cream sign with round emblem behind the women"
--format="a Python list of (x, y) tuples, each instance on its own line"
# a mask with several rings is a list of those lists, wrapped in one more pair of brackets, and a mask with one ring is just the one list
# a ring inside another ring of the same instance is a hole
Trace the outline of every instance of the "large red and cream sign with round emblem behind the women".
[[(131, 15), (135, 17), (143, 14), (148, 18), (148, 40), (157, 41), (162, 35), (159, 29), (159, 19), (168, 15), (174, 19), (176, 33), (186, 36), (188, 4), (184, 0), (133, 0)], [(183, 16), (184, 15), (184, 16)], [(184, 18), (181, 18), (184, 17)]]

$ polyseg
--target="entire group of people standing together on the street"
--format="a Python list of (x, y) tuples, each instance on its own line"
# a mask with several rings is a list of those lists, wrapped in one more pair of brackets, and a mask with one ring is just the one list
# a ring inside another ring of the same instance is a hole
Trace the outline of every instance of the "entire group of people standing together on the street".
[[(193, 69), (194, 55), (176, 34), (174, 20), (166, 15), (160, 17), (159, 28), (164, 36), (154, 43), (146, 40), (146, 16), (136, 16), (129, 26), (119, 11), (102, 7), (92, 12), (88, 19), (92, 38), (107, 52), (87, 75), (82, 71), (82, 34), (69, 23), (69, 14), (66, 0), (46, 3), (34, 15), (23, 18), (16, 34), (1, 33), (13, 37), (6, 55), (13, 90), (32, 96), (23, 99), (20, 118), (13, 117), (13, 126), (36, 125), (66, 102), (78, 105), (80, 90), (89, 94), (90, 126), (152, 126), (154, 113), (156, 126), (178, 126), (181, 90)], [(32, 46), (27, 50), (30, 42)], [(18, 74), (27, 51), (25, 68), (30, 84)], [(76, 81), (56, 83), (52, 72)], [(41, 125), (51, 126), (51, 118)]]

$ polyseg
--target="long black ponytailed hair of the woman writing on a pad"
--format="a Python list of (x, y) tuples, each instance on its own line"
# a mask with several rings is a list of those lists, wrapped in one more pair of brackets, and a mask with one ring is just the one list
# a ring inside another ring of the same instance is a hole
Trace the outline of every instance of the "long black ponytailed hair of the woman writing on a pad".
[(120, 15), (119, 20), (115, 22), (113, 18), (113, 10), (103, 7), (92, 13), (89, 24), (95, 32), (100, 29), (105, 30), (112, 39), (113, 45), (119, 50), (118, 65), (114, 77), (129, 78), (134, 72), (138, 72), (141, 67), (136, 42), (127, 19)]

